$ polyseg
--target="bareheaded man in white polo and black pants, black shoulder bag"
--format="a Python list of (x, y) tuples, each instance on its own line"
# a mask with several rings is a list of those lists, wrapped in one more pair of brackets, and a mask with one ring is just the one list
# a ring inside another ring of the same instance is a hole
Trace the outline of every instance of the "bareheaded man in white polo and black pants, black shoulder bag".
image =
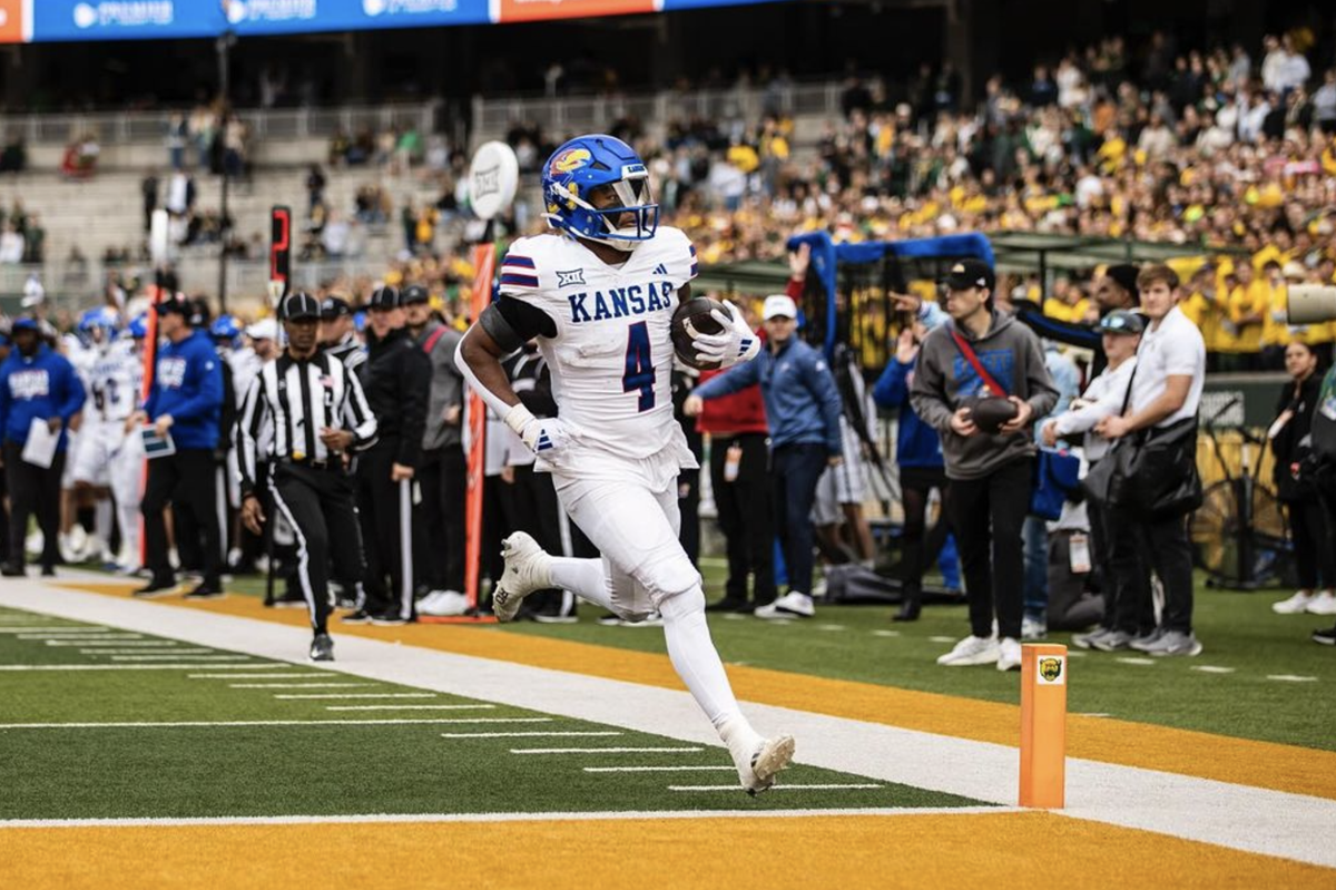
[[(1196, 430), (1206, 378), (1206, 346), (1201, 331), (1178, 309), (1182, 297), (1178, 274), (1168, 266), (1146, 266), (1137, 277), (1137, 286), (1141, 311), (1150, 323), (1137, 351), (1129, 409), (1126, 414), (1106, 417), (1096, 429), (1106, 438), (1142, 432), (1144, 440), (1173, 436), (1181, 425)], [(1138, 648), (1152, 655), (1198, 655), (1201, 643), (1192, 632), (1192, 543), (1186, 514), (1142, 516), (1114, 506), (1110, 520), (1113, 535), (1133, 541), (1142, 559), (1145, 571), (1130, 581), (1141, 587), (1140, 591), (1134, 587), (1134, 600), (1149, 597), (1146, 571), (1150, 569), (1165, 592), (1160, 628)], [(1116, 643), (1130, 645), (1132, 640), (1106, 640), (1102, 648), (1121, 648)]]

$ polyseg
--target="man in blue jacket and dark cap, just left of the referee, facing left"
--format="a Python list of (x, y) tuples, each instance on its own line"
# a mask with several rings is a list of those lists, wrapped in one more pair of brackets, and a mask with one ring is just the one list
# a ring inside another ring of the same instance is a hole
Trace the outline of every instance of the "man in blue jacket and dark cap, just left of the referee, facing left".
[(204, 537), (203, 581), (186, 599), (204, 600), (223, 595), (222, 544), (218, 490), (214, 478), (214, 449), (218, 446), (223, 406), (223, 373), (207, 330), (195, 330), (192, 307), (183, 298), (158, 305), (158, 333), (166, 338), (158, 349), (152, 388), (144, 410), (127, 421), (127, 429), (150, 424), (159, 436), (170, 436), (175, 453), (148, 461), (144, 489), (146, 564), (152, 569), (147, 587), (135, 596), (162, 596), (176, 587), (167, 559), (167, 525), (163, 510), (168, 504), (179, 516), (188, 513), (176, 529), (202, 529)]

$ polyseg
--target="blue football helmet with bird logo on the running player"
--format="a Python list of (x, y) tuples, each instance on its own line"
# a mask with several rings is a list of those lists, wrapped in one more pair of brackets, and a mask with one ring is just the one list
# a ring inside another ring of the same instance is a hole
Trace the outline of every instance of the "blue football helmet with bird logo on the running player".
[[(609, 187), (612, 199), (593, 192)], [(636, 150), (612, 136), (578, 136), (557, 148), (542, 166), (544, 216), (561, 229), (588, 241), (632, 251), (649, 241), (659, 229), (659, 204), (649, 194), (649, 171)], [(631, 214), (633, 225), (619, 226)]]

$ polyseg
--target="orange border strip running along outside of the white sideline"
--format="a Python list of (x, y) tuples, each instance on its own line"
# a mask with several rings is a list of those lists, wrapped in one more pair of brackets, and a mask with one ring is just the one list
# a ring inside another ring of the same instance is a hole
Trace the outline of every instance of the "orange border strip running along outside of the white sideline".
[[(63, 581), (60, 587), (126, 596), (126, 584)], [(267, 609), (250, 596), (159, 604), (305, 627), (303, 611)], [(399, 641), (442, 652), (510, 661), (570, 674), (680, 690), (668, 657), (565, 640), (518, 636), (457, 625), (343, 625), (337, 635)], [(1011, 704), (915, 692), (871, 683), (729, 665), (739, 699), (812, 714), (882, 723), (975, 742), (1017, 747), (1021, 710)], [(1275, 791), (1336, 799), (1336, 752), (1253, 742), (1105, 718), (1067, 718), (1067, 754), (1074, 758), (1216, 779)]]

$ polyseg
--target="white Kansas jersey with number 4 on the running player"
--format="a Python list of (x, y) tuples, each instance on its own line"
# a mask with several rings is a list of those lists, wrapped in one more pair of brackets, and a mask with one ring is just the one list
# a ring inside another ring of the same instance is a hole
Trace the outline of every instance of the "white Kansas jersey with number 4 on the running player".
[(673, 420), (669, 322), (677, 290), (695, 277), (696, 249), (667, 226), (620, 267), (568, 235), (510, 245), (501, 293), (556, 323), (556, 337), (540, 337), (538, 349), (552, 370), (561, 421), (577, 442), (636, 460), (673, 448), (689, 460)]

